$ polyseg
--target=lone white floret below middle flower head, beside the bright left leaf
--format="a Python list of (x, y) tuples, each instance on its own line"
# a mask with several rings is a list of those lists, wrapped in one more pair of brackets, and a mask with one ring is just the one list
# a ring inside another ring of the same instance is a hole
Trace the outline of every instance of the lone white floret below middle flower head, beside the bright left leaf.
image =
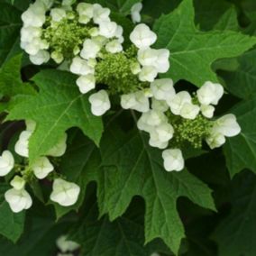
[(96, 116), (103, 115), (110, 109), (109, 97), (105, 90), (100, 90), (99, 92), (89, 96), (89, 102), (91, 104), (92, 114)]

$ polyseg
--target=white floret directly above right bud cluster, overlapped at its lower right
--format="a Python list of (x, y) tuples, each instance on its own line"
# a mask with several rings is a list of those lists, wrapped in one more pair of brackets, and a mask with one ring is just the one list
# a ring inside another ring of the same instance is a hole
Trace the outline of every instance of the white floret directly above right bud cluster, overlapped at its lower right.
[(187, 91), (181, 91), (176, 96), (172, 97), (167, 104), (170, 107), (170, 110), (173, 114), (180, 114), (183, 105), (186, 103), (192, 102), (191, 96), (187, 93)]

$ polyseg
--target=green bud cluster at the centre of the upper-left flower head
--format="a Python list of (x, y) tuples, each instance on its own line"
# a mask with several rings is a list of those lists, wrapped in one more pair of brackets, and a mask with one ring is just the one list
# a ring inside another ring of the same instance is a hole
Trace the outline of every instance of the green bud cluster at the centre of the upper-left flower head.
[(65, 59), (72, 59), (85, 39), (89, 37), (90, 28), (89, 25), (78, 23), (78, 15), (70, 13), (54, 25), (50, 25), (49, 20), (43, 29), (42, 39), (50, 43), (50, 52), (54, 55), (53, 57), (63, 56)]

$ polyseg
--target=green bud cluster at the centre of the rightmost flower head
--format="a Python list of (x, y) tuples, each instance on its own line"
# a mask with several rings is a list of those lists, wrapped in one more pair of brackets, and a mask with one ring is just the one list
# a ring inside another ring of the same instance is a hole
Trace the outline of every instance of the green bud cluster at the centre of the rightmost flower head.
[(201, 114), (194, 120), (169, 115), (169, 122), (175, 131), (172, 142), (180, 147), (188, 142), (195, 149), (202, 148), (202, 142), (209, 135), (212, 127), (212, 122)]

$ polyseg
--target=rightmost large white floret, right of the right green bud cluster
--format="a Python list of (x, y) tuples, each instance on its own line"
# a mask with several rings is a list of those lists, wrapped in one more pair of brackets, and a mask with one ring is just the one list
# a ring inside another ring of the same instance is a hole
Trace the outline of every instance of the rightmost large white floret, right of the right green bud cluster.
[(233, 137), (241, 133), (241, 127), (236, 121), (234, 114), (226, 114), (215, 121), (213, 130), (226, 137)]

